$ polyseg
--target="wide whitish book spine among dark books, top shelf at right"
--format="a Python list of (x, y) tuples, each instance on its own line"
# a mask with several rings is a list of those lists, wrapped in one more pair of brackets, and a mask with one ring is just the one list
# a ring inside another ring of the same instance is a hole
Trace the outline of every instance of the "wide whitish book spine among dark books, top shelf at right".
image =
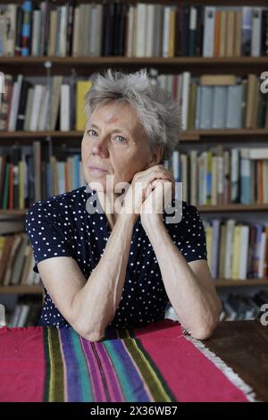
[(203, 57), (214, 56), (215, 7), (205, 6)]

